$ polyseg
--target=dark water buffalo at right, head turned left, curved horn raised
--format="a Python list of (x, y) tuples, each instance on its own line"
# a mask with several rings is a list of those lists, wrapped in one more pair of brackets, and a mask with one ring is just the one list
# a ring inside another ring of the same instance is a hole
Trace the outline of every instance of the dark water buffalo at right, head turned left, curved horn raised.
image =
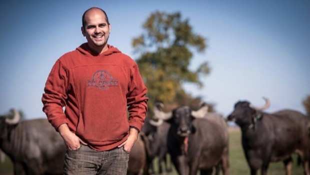
[(291, 174), (291, 154), (298, 152), (304, 167), (304, 174), (309, 175), (308, 168), (308, 119), (294, 110), (280, 110), (266, 113), (261, 110), (270, 104), (255, 107), (248, 101), (238, 101), (234, 110), (227, 116), (241, 128), (242, 147), (252, 175), (260, 169), (267, 174), (269, 162), (282, 160), (286, 174)]

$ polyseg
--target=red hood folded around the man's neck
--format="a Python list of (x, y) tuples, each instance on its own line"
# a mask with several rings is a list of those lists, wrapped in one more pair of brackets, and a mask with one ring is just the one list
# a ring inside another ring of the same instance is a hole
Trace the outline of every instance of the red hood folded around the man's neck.
[(116, 47), (107, 44), (108, 49), (105, 50), (104, 52), (98, 54), (97, 52), (95, 52), (93, 49), (91, 49), (87, 42), (82, 43), (79, 47), (76, 48), (76, 50), (78, 50), (80, 53), (86, 55), (86, 56), (99, 56), (99, 55), (109, 55), (112, 53), (117, 53), (117, 52), (121, 52), (119, 51)]

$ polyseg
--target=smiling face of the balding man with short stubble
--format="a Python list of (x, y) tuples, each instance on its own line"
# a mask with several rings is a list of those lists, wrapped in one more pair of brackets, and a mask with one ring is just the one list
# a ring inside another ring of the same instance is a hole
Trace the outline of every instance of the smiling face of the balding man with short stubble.
[(85, 13), (85, 26), (81, 27), (83, 36), (93, 50), (101, 53), (107, 49), (107, 40), (110, 33), (110, 24), (100, 9), (90, 9)]

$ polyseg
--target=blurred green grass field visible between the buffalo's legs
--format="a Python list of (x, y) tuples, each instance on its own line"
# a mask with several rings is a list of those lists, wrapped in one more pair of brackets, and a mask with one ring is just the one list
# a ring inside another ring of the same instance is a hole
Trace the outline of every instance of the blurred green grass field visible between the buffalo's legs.
[[(240, 130), (238, 128), (230, 128), (229, 129), (229, 174), (230, 175), (248, 175), (249, 168), (247, 166), (245, 157), (243, 155), (241, 141), (240, 141)], [(302, 175), (303, 170), (302, 166), (297, 166), (297, 157), (293, 156), (293, 175)], [(0, 174), (2, 175), (11, 175), (12, 164), (10, 160), (6, 157), (4, 162), (0, 162)], [(171, 175), (177, 174), (174, 172)], [(259, 174), (259, 172), (257, 173)], [(272, 162), (269, 165), (268, 175), (278, 175), (285, 174), (284, 165), (282, 162)]]

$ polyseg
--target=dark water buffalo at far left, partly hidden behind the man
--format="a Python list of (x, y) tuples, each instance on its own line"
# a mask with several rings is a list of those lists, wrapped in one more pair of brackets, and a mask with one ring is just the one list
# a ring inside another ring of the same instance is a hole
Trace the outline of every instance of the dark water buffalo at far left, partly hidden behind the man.
[(0, 148), (14, 165), (15, 175), (62, 174), (65, 145), (47, 119), (19, 121), (0, 116)]

